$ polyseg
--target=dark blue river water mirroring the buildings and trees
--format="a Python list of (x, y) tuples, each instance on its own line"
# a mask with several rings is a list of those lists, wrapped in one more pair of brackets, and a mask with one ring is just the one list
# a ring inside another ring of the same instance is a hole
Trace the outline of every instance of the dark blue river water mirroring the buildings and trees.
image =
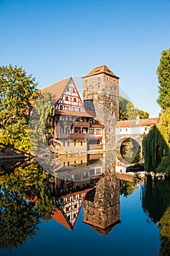
[(169, 255), (169, 181), (123, 180), (99, 163), (62, 181), (1, 160), (0, 255)]

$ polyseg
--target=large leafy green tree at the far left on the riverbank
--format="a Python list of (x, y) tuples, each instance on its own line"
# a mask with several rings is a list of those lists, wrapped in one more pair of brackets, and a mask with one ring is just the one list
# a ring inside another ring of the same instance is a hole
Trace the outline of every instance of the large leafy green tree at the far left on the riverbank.
[[(28, 120), (38, 96), (37, 83), (22, 67), (0, 67), (0, 127), (5, 144), (30, 150)], [(1, 141), (0, 141), (1, 142)], [(3, 142), (4, 143), (4, 142)]]

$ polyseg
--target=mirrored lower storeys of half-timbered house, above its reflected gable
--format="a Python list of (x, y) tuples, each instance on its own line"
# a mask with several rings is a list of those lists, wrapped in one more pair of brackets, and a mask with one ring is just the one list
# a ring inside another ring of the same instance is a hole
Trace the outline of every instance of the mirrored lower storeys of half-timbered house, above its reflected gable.
[(89, 189), (103, 176), (101, 154), (93, 155), (92, 159), (88, 154), (85, 154), (84, 157), (81, 154), (59, 158), (63, 167), (60, 167), (53, 176), (53, 193), (56, 195), (66, 195), (70, 192)]

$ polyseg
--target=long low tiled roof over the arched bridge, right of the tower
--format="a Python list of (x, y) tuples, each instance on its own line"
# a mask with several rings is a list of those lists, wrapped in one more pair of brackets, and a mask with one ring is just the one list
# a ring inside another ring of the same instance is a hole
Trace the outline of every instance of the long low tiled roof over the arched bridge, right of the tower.
[(139, 120), (117, 121), (117, 127), (145, 127), (158, 124), (158, 117)]

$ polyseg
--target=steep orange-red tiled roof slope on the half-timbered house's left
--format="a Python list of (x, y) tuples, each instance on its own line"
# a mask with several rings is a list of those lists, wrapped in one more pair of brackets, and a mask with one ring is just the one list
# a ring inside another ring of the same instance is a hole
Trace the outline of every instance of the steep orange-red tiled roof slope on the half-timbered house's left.
[(63, 91), (71, 78), (72, 77), (65, 78), (57, 83), (53, 83), (51, 86), (47, 86), (45, 89), (42, 89), (41, 93), (45, 91), (49, 92), (53, 97), (53, 101), (57, 102), (58, 99), (61, 98), (61, 95), (63, 94)]

